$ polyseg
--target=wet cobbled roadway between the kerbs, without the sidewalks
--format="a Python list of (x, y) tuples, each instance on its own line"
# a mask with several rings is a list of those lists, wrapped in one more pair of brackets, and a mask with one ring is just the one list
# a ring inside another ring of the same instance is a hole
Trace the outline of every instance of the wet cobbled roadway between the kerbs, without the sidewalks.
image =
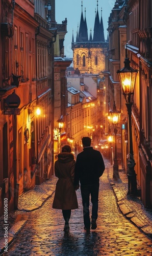
[(120, 213), (105, 170), (100, 179), (97, 229), (84, 230), (80, 189), (79, 209), (72, 210), (70, 232), (64, 233), (61, 210), (52, 208), (50, 197), (42, 207), (26, 212), (28, 221), (2, 255), (152, 255), (152, 241)]

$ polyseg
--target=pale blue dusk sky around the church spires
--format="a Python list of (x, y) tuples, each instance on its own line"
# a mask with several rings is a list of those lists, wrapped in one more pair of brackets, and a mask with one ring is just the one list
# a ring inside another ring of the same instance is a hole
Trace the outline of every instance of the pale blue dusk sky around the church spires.
[[(74, 41), (76, 37), (78, 24), (80, 26), (81, 18), (81, 3), (82, 0), (56, 0), (56, 22), (62, 24), (62, 20), (67, 18), (67, 34), (65, 35), (64, 48), (65, 55), (68, 58), (73, 57), (73, 52), (71, 50), (71, 41), (72, 41), (72, 30), (74, 34)], [(98, 13), (99, 19), (101, 17), (101, 8), (103, 10), (103, 24), (104, 24), (104, 33), (105, 39), (107, 39), (107, 28), (108, 28), (108, 18), (115, 4), (115, 0), (98, 0)], [(97, 10), (97, 0), (83, 0), (83, 14), (85, 17), (85, 8), (86, 8), (86, 20), (88, 27), (88, 36), (90, 34), (90, 29), (94, 28), (95, 20), (95, 8)]]

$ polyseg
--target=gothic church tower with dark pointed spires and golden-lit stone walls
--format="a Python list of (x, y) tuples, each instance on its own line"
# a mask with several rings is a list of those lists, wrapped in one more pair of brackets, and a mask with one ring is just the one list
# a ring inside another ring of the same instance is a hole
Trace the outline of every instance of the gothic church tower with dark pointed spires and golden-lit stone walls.
[(105, 41), (102, 15), (99, 20), (98, 0), (97, 11), (95, 12), (93, 38), (91, 30), (88, 38), (86, 10), (84, 17), (82, 3), (80, 27), (78, 28), (75, 42), (74, 36), (72, 35), (73, 68), (78, 68), (80, 73), (97, 74), (100, 71), (104, 71), (107, 49), (108, 42)]

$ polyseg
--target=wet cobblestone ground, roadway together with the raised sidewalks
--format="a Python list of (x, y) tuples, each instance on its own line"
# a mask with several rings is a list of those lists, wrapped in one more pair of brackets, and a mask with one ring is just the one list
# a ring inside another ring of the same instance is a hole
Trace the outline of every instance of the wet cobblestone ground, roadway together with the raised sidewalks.
[[(19, 210), (14, 212), (14, 216), (18, 216), (16, 223), (21, 222), (22, 228), (20, 230), (18, 228), (16, 232), (13, 229), (15, 225), (10, 223), (13, 242), (9, 246), (8, 253), (2, 255), (151, 256), (152, 240), (145, 235), (148, 233), (150, 236), (152, 233), (151, 211), (145, 210), (138, 198), (126, 196), (128, 187), (126, 175), (121, 172), (120, 180), (114, 183), (113, 170), (108, 163), (106, 165), (108, 168), (100, 179), (96, 230), (90, 232), (84, 230), (79, 189), (77, 190), (79, 209), (72, 210), (70, 232), (64, 233), (62, 212), (52, 208), (57, 181), (54, 177), (19, 198)], [(121, 206), (122, 212), (118, 205)], [(36, 207), (38, 208), (34, 210)], [(127, 215), (129, 210), (132, 212), (130, 214), (132, 218)], [(149, 228), (149, 231), (144, 233), (146, 228)], [(3, 237), (2, 230), (0, 234)]]

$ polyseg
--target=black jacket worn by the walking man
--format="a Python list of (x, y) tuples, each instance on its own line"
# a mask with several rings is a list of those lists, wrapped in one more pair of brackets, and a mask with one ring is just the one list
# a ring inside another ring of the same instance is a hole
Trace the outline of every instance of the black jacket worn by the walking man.
[(105, 164), (102, 154), (94, 150), (92, 146), (84, 147), (83, 152), (78, 154), (75, 164), (74, 185), (96, 184), (103, 175)]

